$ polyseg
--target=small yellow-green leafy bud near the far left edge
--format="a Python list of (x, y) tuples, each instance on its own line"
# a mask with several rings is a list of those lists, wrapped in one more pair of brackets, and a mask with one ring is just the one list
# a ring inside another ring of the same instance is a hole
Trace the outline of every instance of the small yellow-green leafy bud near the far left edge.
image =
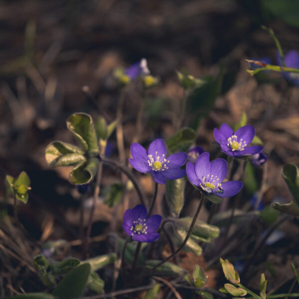
[(22, 171), (17, 178), (13, 178), (11, 175), (6, 175), (6, 183), (9, 186), (10, 192), (17, 200), (27, 203), (27, 192), (31, 187), (29, 176), (25, 171)]

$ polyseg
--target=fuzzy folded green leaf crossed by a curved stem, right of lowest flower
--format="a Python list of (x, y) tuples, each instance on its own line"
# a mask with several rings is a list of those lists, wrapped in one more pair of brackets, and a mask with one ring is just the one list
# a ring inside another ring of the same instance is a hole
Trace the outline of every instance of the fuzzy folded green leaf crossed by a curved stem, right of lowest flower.
[[(174, 227), (177, 230), (182, 230), (187, 233), (191, 222), (191, 217), (176, 219), (174, 221)], [(195, 225), (192, 229), (191, 237), (199, 241), (210, 242), (212, 238), (217, 238), (219, 236), (219, 233), (220, 230), (217, 226), (207, 224), (200, 220), (196, 220)]]

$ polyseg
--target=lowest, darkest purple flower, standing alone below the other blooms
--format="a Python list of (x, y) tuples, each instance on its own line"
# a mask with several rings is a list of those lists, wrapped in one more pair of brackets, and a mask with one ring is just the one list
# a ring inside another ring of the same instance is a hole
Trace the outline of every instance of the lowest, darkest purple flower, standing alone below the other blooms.
[(123, 228), (128, 236), (138, 242), (154, 242), (160, 236), (155, 233), (162, 221), (160, 215), (152, 215), (148, 218), (148, 211), (142, 204), (128, 209), (124, 214)]

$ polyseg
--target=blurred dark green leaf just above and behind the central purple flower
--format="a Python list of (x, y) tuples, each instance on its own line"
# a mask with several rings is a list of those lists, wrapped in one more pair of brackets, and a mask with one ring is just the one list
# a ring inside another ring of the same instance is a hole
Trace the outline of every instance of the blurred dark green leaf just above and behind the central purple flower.
[(191, 128), (182, 128), (171, 137), (167, 138), (165, 143), (170, 152), (186, 151), (195, 141), (195, 131)]

